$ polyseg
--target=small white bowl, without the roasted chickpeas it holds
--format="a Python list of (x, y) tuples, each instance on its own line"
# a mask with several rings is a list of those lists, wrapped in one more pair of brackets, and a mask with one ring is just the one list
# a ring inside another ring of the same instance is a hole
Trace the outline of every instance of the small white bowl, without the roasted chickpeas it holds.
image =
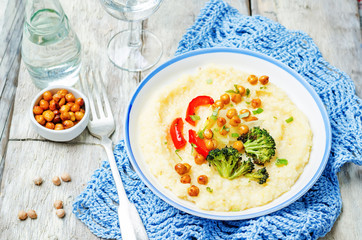
[[(42, 99), (44, 92), (50, 91), (52, 94), (55, 94), (57, 91), (59, 91), (61, 89), (66, 89), (66, 90), (68, 90), (68, 92), (73, 93), (75, 98), (79, 98), (79, 97), (83, 98), (84, 109), (85, 109), (84, 117), (82, 118), (82, 120), (80, 120), (80, 122), (77, 125), (75, 125), (71, 128), (64, 129), (64, 130), (48, 129), (48, 128), (40, 125), (35, 120), (33, 108), (35, 105), (38, 105), (39, 101)], [(37, 131), (37, 133), (39, 133), (40, 136), (42, 136), (48, 140), (55, 141), (55, 142), (67, 142), (67, 141), (70, 141), (70, 140), (76, 138), (87, 127), (88, 121), (89, 121), (89, 107), (88, 106), (89, 106), (88, 98), (83, 93), (78, 91), (77, 89), (68, 87), (68, 86), (55, 85), (55, 86), (50, 86), (48, 88), (43, 89), (35, 96), (35, 98), (31, 102), (31, 105), (29, 108), (29, 116), (30, 116), (30, 120), (34, 126), (34, 129)]]

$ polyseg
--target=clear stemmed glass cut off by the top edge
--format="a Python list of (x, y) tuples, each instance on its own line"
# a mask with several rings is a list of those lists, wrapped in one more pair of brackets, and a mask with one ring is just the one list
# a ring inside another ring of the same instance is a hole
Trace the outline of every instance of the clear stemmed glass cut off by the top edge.
[(142, 30), (141, 21), (152, 15), (162, 1), (100, 0), (110, 15), (129, 23), (128, 30), (117, 33), (108, 43), (108, 57), (114, 65), (136, 72), (147, 70), (160, 60), (162, 43), (151, 32)]

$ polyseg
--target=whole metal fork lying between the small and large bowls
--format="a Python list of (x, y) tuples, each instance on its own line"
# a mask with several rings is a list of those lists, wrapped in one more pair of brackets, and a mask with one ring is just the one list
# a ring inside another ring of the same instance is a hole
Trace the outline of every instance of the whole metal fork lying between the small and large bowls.
[[(90, 120), (88, 123), (89, 132), (101, 140), (106, 150), (109, 165), (119, 198), (118, 219), (121, 228), (122, 239), (125, 240), (147, 240), (148, 236), (143, 222), (133, 203), (131, 203), (124, 190), (121, 176), (113, 155), (112, 141), (109, 137), (115, 129), (115, 123), (107, 94), (103, 85), (102, 75), (99, 71), (94, 73), (87, 69), (86, 76), (81, 74), (81, 86), (86, 91), (90, 105)], [(90, 88), (91, 87), (91, 88)]]

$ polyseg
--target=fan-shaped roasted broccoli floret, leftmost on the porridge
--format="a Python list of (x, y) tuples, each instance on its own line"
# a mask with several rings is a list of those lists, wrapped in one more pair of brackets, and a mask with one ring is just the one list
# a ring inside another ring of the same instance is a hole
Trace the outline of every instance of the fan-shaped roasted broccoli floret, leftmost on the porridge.
[(211, 150), (206, 160), (217, 169), (221, 177), (230, 180), (254, 169), (250, 160), (242, 162), (241, 153), (233, 147)]

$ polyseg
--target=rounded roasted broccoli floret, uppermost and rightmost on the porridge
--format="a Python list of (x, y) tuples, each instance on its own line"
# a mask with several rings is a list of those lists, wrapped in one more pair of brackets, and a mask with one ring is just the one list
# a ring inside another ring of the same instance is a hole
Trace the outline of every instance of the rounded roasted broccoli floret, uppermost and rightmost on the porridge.
[(275, 155), (275, 141), (267, 130), (253, 127), (248, 133), (238, 137), (244, 143), (246, 154), (258, 165), (264, 165)]

